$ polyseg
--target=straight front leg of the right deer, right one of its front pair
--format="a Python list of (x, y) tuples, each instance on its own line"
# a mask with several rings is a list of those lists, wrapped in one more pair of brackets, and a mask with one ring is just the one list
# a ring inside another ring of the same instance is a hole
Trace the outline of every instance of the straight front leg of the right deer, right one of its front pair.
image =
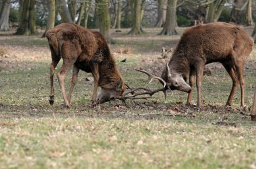
[(203, 78), (203, 70), (204, 70), (204, 63), (199, 63), (196, 66), (196, 74), (197, 74), (197, 107), (201, 107), (201, 84)]

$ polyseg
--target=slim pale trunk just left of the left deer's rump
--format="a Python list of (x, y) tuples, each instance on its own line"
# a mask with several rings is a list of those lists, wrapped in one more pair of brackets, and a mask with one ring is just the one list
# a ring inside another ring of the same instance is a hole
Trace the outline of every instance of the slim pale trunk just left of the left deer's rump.
[(49, 7), (49, 15), (47, 19), (46, 29), (44, 34), (42, 34), (42, 38), (45, 37), (46, 31), (53, 29), (55, 25), (55, 0), (48, 0), (48, 7)]

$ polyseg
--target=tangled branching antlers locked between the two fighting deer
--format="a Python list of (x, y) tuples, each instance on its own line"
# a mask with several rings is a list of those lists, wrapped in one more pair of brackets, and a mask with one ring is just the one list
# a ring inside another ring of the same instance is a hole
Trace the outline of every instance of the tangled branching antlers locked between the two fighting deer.
[[(152, 97), (155, 93), (163, 92), (164, 100), (166, 101), (166, 91), (170, 90), (170, 87), (168, 87), (168, 85), (166, 85), (166, 82), (162, 78), (160, 78), (158, 76), (154, 76), (154, 75), (150, 74), (149, 72), (146, 72), (145, 70), (139, 70), (139, 69), (135, 69), (135, 70), (147, 74), (148, 80), (150, 80), (150, 82), (152, 82), (152, 80), (154, 80), (154, 79), (160, 80), (163, 83), (164, 87), (161, 89), (156, 89), (156, 90), (146, 89), (144, 87), (138, 87), (138, 88), (132, 89), (128, 84), (125, 84), (130, 91), (123, 93), (122, 97), (115, 97), (115, 99), (119, 99), (119, 100), (123, 101), (123, 103), (126, 105), (125, 101), (127, 99), (130, 99), (131, 101), (133, 101), (135, 99), (148, 99), (148, 98)], [(136, 93), (136, 91), (142, 91), (142, 92)], [(150, 95), (150, 97), (138, 97), (141, 95)]]

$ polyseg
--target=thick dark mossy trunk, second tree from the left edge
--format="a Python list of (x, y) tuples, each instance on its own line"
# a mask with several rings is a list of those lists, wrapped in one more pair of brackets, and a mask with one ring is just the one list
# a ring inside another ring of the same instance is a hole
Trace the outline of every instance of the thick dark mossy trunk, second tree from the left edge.
[(22, 17), (20, 26), (15, 34), (31, 35), (36, 33), (36, 21), (34, 19), (34, 0), (24, 0), (22, 5)]

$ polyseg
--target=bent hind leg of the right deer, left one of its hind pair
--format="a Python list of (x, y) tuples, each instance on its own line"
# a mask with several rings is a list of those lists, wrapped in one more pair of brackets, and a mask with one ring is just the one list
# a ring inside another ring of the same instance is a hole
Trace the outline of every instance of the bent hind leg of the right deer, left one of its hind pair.
[(230, 95), (228, 97), (228, 101), (226, 101), (226, 106), (230, 106), (232, 104), (232, 100), (234, 98), (234, 93), (236, 93), (236, 89), (238, 86), (238, 79), (237, 79), (236, 73), (234, 72), (234, 68), (232, 68), (232, 66), (230, 66), (230, 64), (223, 64), (223, 66), (226, 69), (226, 71), (228, 72), (228, 74), (231, 77), (232, 82), (233, 82), (232, 89), (231, 89)]

